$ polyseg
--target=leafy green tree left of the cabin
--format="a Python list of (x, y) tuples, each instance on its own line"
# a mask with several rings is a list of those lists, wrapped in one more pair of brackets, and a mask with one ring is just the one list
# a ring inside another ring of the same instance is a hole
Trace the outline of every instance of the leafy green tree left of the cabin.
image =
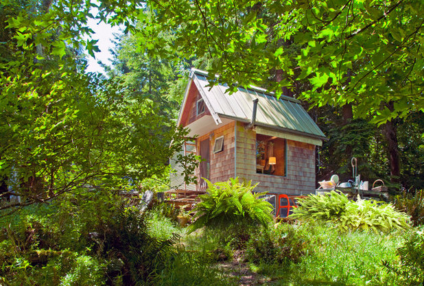
[[(90, 32), (84, 23), (94, 4), (54, 2), (42, 10), (19, 3), (2, 2), (0, 12), (8, 23), (1, 32), (10, 36), (10, 53), (0, 58), (0, 180), (22, 201), (0, 208), (82, 187), (131, 189), (166, 176), (187, 132), (151, 97), (132, 97), (112, 80), (84, 74), (68, 51)], [(94, 51), (93, 40), (85, 47)]]

